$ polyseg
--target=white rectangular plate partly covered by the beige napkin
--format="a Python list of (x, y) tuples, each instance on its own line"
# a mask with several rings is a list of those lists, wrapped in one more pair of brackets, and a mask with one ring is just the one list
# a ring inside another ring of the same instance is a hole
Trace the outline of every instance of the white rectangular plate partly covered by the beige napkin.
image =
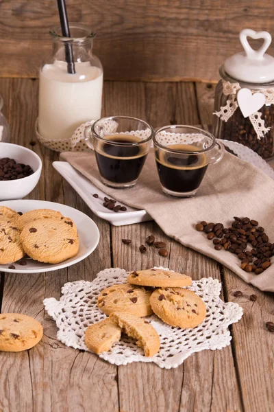
[[(82, 197), (83, 201), (99, 218), (108, 220), (114, 226), (132, 225), (132, 223), (145, 222), (151, 220), (151, 216), (145, 210), (134, 209), (123, 203), (119, 205), (126, 206), (127, 211), (115, 212), (103, 207), (103, 198), (108, 196), (98, 189), (95, 185), (86, 179), (83, 174), (77, 172), (67, 161), (53, 161), (55, 168), (61, 176), (73, 187), (73, 189)], [(94, 198), (93, 194), (99, 194), (99, 198)]]

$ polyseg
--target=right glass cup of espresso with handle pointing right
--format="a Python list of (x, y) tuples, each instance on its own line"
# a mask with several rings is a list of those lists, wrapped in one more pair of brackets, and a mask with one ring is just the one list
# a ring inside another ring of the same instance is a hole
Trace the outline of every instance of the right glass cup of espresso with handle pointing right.
[(211, 133), (194, 126), (164, 126), (153, 137), (155, 160), (166, 194), (194, 196), (209, 164), (218, 163), (224, 147)]

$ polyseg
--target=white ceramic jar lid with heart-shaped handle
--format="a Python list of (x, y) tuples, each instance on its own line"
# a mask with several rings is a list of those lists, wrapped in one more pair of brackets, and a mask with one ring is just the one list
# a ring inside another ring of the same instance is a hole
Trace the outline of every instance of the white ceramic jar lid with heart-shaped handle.
[[(264, 43), (258, 50), (249, 45), (247, 36), (263, 38)], [(229, 76), (242, 82), (266, 83), (274, 80), (274, 57), (265, 54), (271, 44), (271, 34), (245, 29), (240, 32), (240, 43), (245, 52), (234, 54), (225, 60), (225, 71)]]

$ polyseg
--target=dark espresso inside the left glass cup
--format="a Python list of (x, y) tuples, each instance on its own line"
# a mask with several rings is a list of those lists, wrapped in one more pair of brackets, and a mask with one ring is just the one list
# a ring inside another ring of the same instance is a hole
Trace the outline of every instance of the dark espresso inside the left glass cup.
[(106, 135), (95, 146), (99, 172), (113, 183), (136, 181), (147, 158), (147, 143), (134, 135)]

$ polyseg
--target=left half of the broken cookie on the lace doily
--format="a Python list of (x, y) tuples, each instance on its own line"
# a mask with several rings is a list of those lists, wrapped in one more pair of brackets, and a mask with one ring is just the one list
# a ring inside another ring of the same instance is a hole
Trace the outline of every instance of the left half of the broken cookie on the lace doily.
[(108, 352), (115, 342), (120, 341), (120, 338), (121, 328), (107, 318), (88, 327), (85, 343), (92, 352), (101, 354), (101, 352)]

